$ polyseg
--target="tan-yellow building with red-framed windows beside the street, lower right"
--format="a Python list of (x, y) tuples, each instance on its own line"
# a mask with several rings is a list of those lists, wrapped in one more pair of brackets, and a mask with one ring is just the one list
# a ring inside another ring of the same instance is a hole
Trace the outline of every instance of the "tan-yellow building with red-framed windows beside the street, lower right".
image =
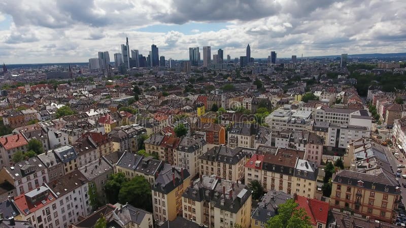
[[(374, 174), (340, 170), (332, 177), (330, 207), (349, 208), (356, 214), (391, 222), (401, 191), (389, 164), (380, 163)], [(383, 168), (385, 167), (385, 168)], [(388, 169), (386, 169), (388, 168)]]

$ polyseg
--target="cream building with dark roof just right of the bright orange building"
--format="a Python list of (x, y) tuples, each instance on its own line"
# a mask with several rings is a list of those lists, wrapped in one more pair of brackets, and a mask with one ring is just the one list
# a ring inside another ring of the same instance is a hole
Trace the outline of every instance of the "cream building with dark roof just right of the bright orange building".
[(258, 125), (256, 124), (234, 123), (228, 130), (228, 147), (254, 148), (257, 131)]

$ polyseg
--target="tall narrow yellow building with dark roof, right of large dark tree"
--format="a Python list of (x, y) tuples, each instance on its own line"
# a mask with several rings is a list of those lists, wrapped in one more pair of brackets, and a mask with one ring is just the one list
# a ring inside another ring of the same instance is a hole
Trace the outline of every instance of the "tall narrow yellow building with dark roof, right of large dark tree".
[(182, 194), (190, 185), (190, 174), (165, 164), (152, 185), (154, 221), (173, 221), (182, 213)]

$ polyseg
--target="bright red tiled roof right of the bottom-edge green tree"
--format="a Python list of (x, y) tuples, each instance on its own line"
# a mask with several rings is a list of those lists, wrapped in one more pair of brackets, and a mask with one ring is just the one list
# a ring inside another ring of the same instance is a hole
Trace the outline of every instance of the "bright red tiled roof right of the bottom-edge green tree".
[(302, 196), (296, 196), (295, 202), (299, 208), (303, 208), (306, 211), (312, 225), (316, 225), (317, 222), (327, 224), (328, 203)]

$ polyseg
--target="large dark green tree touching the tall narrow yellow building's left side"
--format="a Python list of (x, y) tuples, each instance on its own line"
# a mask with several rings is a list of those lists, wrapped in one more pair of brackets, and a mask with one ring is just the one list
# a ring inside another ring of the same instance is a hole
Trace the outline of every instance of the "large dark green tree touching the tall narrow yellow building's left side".
[(123, 183), (118, 198), (121, 204), (128, 202), (134, 207), (152, 212), (151, 185), (143, 176), (136, 176)]

